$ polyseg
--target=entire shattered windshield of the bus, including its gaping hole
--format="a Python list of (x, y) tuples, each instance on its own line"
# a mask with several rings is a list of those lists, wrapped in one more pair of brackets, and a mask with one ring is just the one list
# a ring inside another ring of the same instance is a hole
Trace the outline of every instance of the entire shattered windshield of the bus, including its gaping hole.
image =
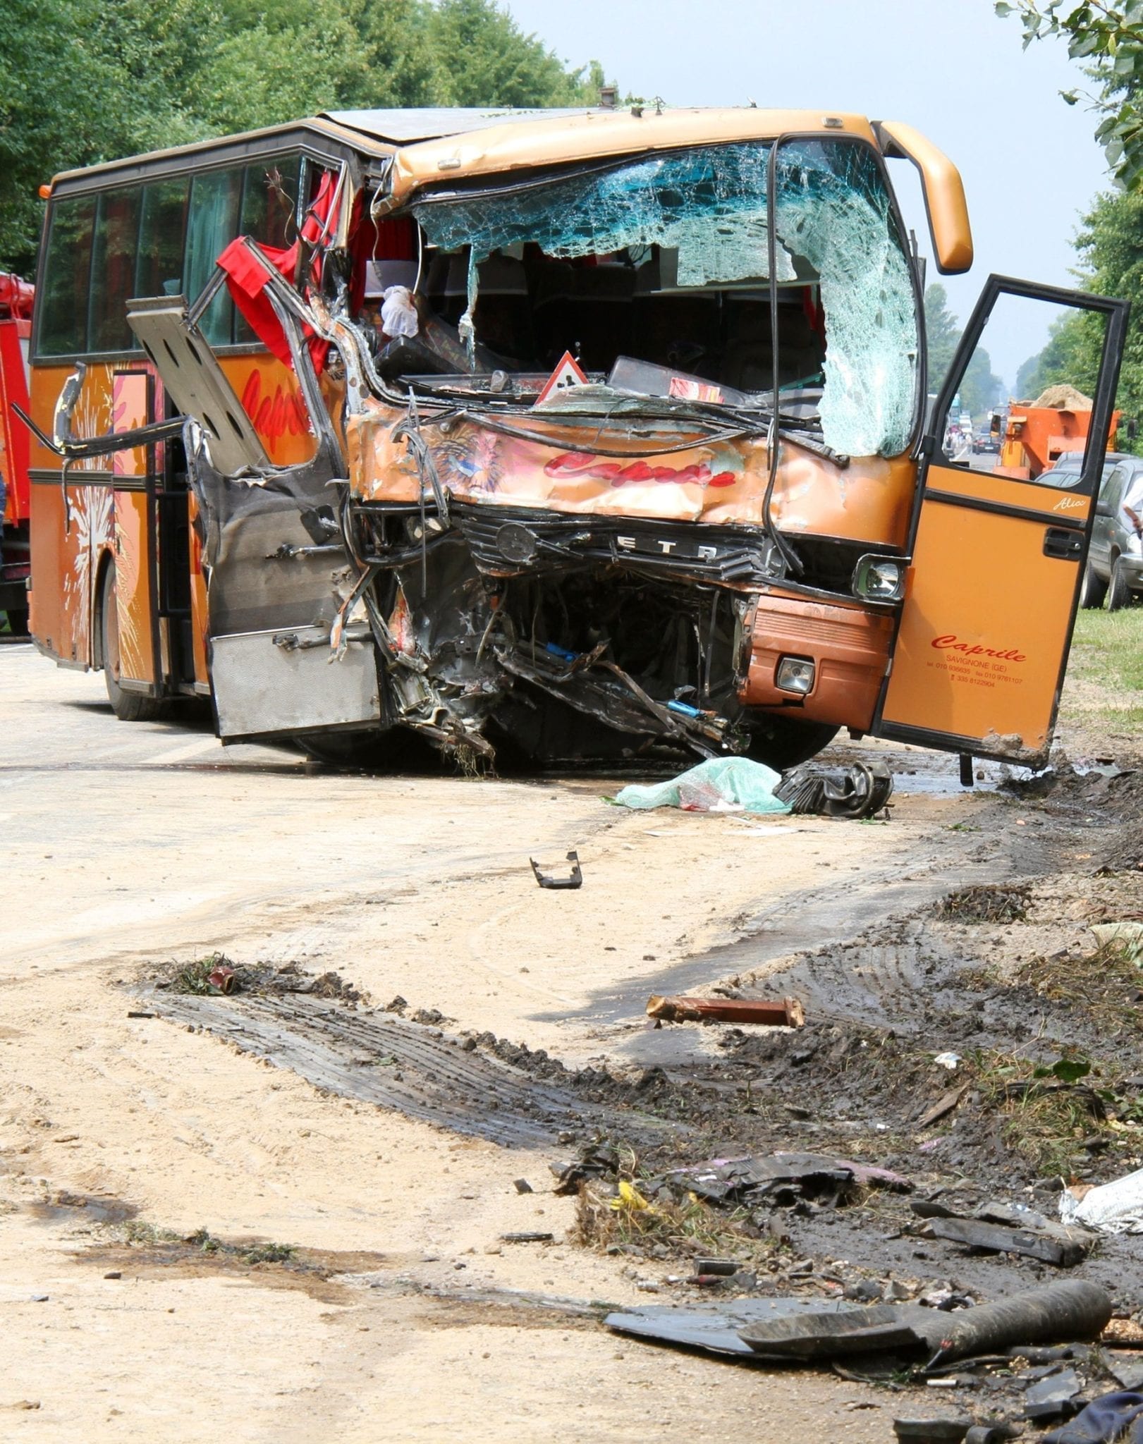
[[(566, 289), (574, 282), (577, 296), (593, 296), (590, 287), (605, 279), (587, 277), (584, 266), (626, 269), (631, 297), (661, 306), (644, 308), (644, 323), (628, 334), (612, 306), (615, 351), (606, 368), (626, 365), (610, 384), (772, 406), (769, 152), (758, 142), (696, 147), (495, 192), (426, 198), (414, 214), (432, 245), (466, 257), (462, 335), (468, 328), (485, 339), (478, 309), (485, 276), (514, 257), (564, 263)], [(779, 407), (820, 427), (837, 452), (899, 455), (916, 409), (918, 315), (875, 153), (851, 140), (788, 142), (778, 152), (776, 185)], [(535, 274), (533, 267), (527, 282), (534, 303), (546, 297)], [(661, 321), (668, 299), (670, 319)], [(492, 315), (491, 305), (485, 312)], [(657, 326), (670, 331), (661, 355), (652, 354)], [(681, 367), (698, 388), (632, 386), (632, 377), (648, 374), (639, 360)], [(722, 386), (707, 388), (703, 380)]]

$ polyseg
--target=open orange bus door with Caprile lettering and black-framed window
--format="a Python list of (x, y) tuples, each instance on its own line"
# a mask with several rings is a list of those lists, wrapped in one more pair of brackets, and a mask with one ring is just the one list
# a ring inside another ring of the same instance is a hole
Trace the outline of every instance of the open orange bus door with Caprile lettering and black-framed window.
[[(922, 440), (912, 560), (877, 736), (963, 757), (1046, 761), (1129, 309), (1105, 296), (989, 277)], [(970, 388), (996, 383), (981, 341), (999, 348), (993, 338), (1003, 338), (1010, 352), (1013, 336), (1029, 338), (1029, 354), (1048, 342), (1052, 370), (1041, 377), (1051, 381), (1067, 373), (1069, 357), (1098, 357), (1082, 472), (1067, 488), (1052, 485), (1051, 469), (1017, 478), (999, 474), (994, 455), (952, 461), (945, 451), (952, 397), (965, 378)]]

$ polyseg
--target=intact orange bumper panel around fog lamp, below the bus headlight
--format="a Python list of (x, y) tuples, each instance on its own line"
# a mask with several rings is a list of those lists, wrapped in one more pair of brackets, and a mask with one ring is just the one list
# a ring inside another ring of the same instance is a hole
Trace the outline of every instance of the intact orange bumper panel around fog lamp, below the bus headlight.
[[(860, 606), (836, 606), (792, 596), (761, 596), (748, 617), (750, 660), (739, 700), (807, 722), (869, 731), (889, 658), (893, 618)], [(774, 674), (782, 657), (810, 657), (814, 686), (805, 699), (779, 692)]]

